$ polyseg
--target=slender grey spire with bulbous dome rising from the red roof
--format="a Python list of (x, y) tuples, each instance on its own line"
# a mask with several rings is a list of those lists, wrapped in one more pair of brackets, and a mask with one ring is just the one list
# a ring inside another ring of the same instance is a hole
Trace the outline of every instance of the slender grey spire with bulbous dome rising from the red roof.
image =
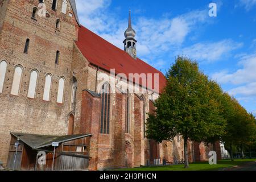
[(128, 22), (128, 28), (125, 31), (125, 40), (123, 43), (125, 44), (125, 51), (129, 53), (131, 57), (134, 59), (137, 59), (137, 51), (136, 51), (136, 43), (137, 40), (135, 40), (136, 32), (133, 30), (133, 27), (131, 26), (131, 11), (129, 11), (129, 22)]

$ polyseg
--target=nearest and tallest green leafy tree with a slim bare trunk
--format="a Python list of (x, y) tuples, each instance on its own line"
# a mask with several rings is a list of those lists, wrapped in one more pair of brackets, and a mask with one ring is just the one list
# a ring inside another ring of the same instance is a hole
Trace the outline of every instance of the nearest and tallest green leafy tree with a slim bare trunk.
[(183, 135), (188, 168), (188, 140), (200, 142), (221, 135), (225, 119), (213, 96), (214, 86), (196, 62), (177, 57), (166, 77), (166, 88), (155, 101), (156, 113), (150, 114), (147, 121), (147, 137), (161, 143)]

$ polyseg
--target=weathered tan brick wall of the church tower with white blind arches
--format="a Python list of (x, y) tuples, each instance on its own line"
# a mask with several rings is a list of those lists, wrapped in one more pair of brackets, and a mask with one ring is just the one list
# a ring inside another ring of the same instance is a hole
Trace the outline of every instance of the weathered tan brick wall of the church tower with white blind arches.
[[(0, 93), (0, 160), (6, 163), (10, 131), (22, 133), (63, 135), (67, 133), (68, 105), (70, 96), (70, 72), (73, 40), (77, 39), (78, 24), (62, 14), (61, 4), (57, 11), (51, 10), (46, 1), (50, 18), (31, 19), (32, 9), (38, 1), (10, 0), (2, 24), (0, 36), (0, 61), (6, 60), (7, 72)], [(68, 5), (70, 7), (70, 5)], [(5, 5), (3, 7), (6, 7)], [(3, 8), (2, 7), (2, 8)], [(1, 9), (2, 10), (2, 9)], [(1, 11), (1, 18), (4, 17)], [(55, 29), (56, 19), (61, 20), (60, 31)], [(2, 20), (2, 19), (1, 19)], [(26, 39), (30, 39), (28, 54), (24, 53)], [(56, 51), (60, 51), (59, 64), (55, 64)], [(23, 67), (19, 96), (11, 96), (14, 68)], [(30, 72), (39, 72), (35, 99), (27, 98)], [(52, 75), (51, 100), (43, 101), (45, 76)], [(57, 90), (60, 77), (65, 78), (63, 104), (57, 104)]]

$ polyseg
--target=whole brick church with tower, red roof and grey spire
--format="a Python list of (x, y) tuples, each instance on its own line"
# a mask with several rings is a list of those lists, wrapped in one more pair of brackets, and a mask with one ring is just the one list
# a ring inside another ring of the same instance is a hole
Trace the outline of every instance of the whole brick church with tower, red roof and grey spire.
[[(52, 142), (60, 143), (55, 169), (183, 160), (181, 136), (160, 144), (146, 137), (147, 113), (154, 113), (166, 80), (137, 57), (131, 16), (128, 24), (122, 50), (79, 23), (75, 0), (0, 0), (0, 160), (5, 166), (37, 167), (39, 151), (51, 161)], [(130, 73), (146, 75), (146, 84), (141, 77), (123, 79)], [(188, 145), (191, 162), (207, 160), (212, 150), (203, 143)], [(67, 160), (73, 163), (63, 167)]]

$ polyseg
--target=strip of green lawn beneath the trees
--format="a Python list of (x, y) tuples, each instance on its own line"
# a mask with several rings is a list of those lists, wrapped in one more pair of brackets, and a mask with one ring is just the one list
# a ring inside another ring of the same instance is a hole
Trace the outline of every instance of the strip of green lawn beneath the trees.
[(192, 163), (189, 164), (189, 168), (185, 169), (184, 164), (172, 165), (172, 166), (160, 166), (160, 167), (140, 167), (129, 169), (118, 169), (119, 171), (217, 171), (220, 169), (240, 166), (247, 162), (254, 162), (256, 159), (237, 159), (232, 162), (231, 160), (220, 160), (217, 165), (210, 165), (205, 163)]

